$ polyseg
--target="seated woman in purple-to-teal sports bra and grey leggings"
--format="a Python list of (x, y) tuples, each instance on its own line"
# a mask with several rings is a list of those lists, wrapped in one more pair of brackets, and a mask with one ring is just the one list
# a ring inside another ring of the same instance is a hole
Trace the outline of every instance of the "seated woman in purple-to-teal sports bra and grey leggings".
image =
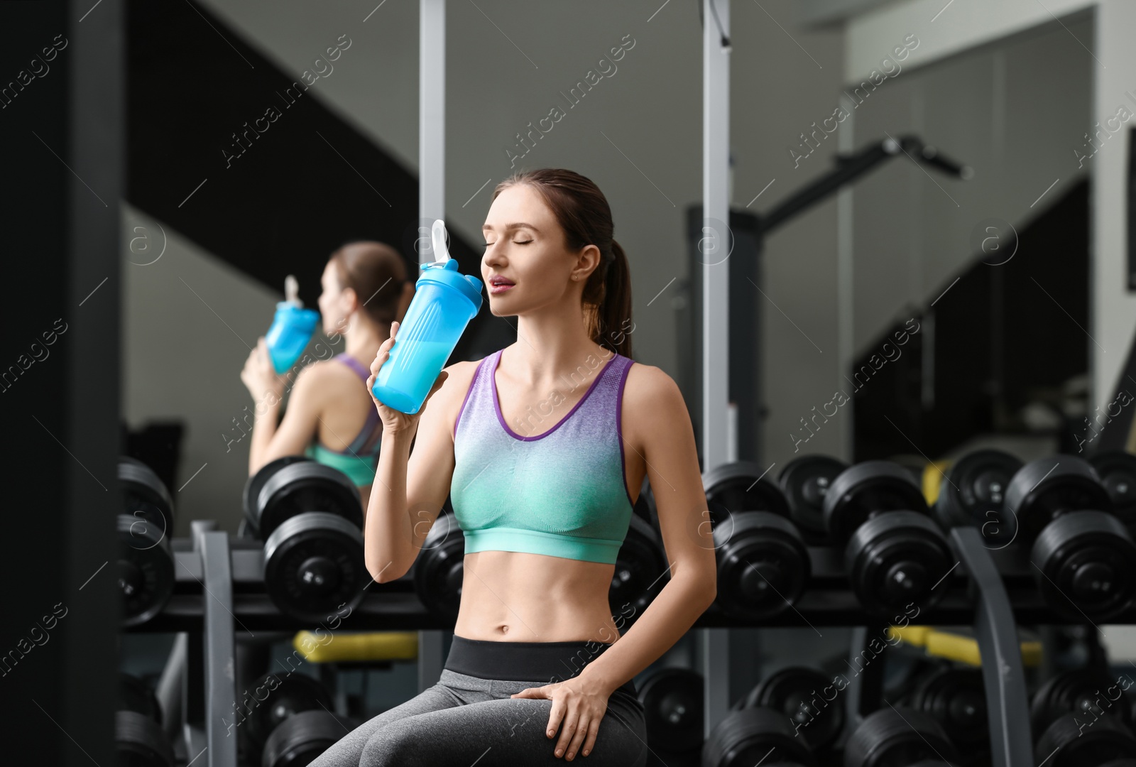
[[(437, 684), (312, 767), (644, 765), (632, 678), (715, 599), (694, 432), (674, 381), (630, 359), (607, 199), (570, 170), (526, 172), (498, 185), (483, 228), (490, 310), (518, 318), (517, 342), (448, 367), (417, 415), (376, 401), (385, 486), (364, 532), (368, 570), (394, 581), (451, 497), (466, 552), (453, 645)], [(670, 580), (620, 636), (608, 591), (644, 474)]]

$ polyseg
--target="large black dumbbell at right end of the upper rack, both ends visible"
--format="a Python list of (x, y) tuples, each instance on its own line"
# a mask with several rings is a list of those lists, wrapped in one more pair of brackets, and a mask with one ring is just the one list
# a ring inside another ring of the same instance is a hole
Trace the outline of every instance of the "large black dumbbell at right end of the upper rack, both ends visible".
[(1054, 611), (1101, 620), (1121, 612), (1136, 593), (1136, 545), (1112, 514), (1093, 467), (1075, 456), (1041, 458), (1010, 480), (1005, 507), (1022, 543), (1033, 542), (1038, 589)]

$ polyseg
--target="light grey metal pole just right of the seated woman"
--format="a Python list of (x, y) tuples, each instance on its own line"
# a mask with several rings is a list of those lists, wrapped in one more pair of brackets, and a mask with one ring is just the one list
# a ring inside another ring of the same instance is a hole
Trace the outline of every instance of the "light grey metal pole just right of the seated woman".
[[(729, 394), (729, 0), (702, 0), (702, 469), (728, 460)], [(729, 710), (715, 658), (728, 659), (728, 631), (702, 636), (705, 736)]]

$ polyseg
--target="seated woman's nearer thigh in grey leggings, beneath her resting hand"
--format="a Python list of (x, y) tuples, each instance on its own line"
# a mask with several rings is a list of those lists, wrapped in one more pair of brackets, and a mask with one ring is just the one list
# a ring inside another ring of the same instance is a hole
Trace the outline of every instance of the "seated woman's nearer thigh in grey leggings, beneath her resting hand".
[[(516, 689), (501, 685), (516, 684)], [(520, 767), (583, 764), (636, 767), (646, 764), (643, 709), (629, 695), (615, 693), (600, 722), (592, 752), (571, 762), (554, 755), (559, 733), (548, 737), (552, 701), (509, 698), (532, 683), (493, 682), (493, 700), (417, 714), (374, 732), (359, 767)], [(500, 697), (500, 695), (503, 695)], [(319, 762), (316, 762), (319, 764)]]

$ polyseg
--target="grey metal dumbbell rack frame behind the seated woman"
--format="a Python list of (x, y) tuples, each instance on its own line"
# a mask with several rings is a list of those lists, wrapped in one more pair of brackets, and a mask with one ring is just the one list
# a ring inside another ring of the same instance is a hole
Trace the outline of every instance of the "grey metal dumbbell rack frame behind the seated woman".
[[(174, 595), (161, 612), (131, 632), (186, 632), (190, 652), (184, 707), (186, 748), (193, 756), (208, 748), (210, 767), (236, 767), (236, 739), (227, 736), (222, 716), (237, 700), (233, 677), (235, 628), (293, 631), (310, 624), (282, 614), (268, 598), (262, 580), (264, 550), (254, 540), (218, 532), (214, 522), (193, 522), (189, 539), (174, 539), (176, 583)], [(1031, 767), (1033, 743), (1029, 706), (1019, 649), (1017, 623), (1077, 623), (1056, 616), (1037, 593), (1024, 547), (991, 550), (976, 528), (960, 527), (950, 541), (958, 565), (944, 578), (946, 593), (922, 610), (920, 625), (972, 625), (984, 659), (987, 711), (995, 767)], [(802, 598), (778, 615), (760, 623), (744, 623), (725, 615), (717, 605), (707, 610), (694, 628), (853, 626), (854, 643), (862, 649), (878, 618), (867, 614), (849, 587), (842, 552), (832, 547), (809, 547), (812, 576)], [(428, 611), (418, 599), (408, 573), (398, 581), (369, 586), (348, 620), (352, 631), (425, 631), (441, 635), (452, 622)], [(1136, 624), (1136, 608), (1110, 623)], [(869, 631), (871, 630), (871, 631)], [(701, 653), (707, 684), (708, 727), (725, 717), (729, 706), (729, 655), (725, 632), (704, 632)], [(441, 644), (431, 652), (441, 655)], [(424, 657), (429, 662), (431, 658)], [(853, 720), (869, 712), (879, 699), (882, 664), (852, 680), (846, 706)], [(203, 723), (203, 726), (202, 724)]]

